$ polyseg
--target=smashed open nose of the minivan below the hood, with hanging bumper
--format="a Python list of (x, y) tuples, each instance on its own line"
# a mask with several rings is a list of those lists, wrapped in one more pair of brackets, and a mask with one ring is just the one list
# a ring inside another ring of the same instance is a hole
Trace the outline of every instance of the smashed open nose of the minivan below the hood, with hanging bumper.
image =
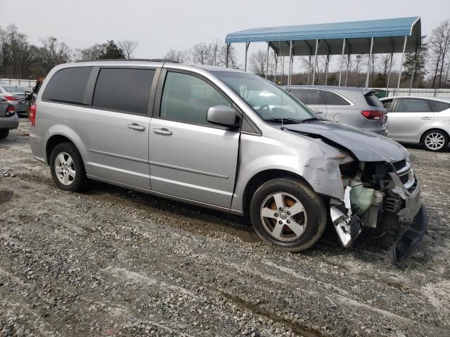
[(330, 217), (345, 247), (364, 227), (401, 228), (399, 213), (408, 223), (390, 249), (394, 265), (401, 265), (420, 244), (427, 227), (427, 211), (420, 202), (420, 184), (409, 159), (351, 161), (340, 165), (343, 200), (330, 200)]

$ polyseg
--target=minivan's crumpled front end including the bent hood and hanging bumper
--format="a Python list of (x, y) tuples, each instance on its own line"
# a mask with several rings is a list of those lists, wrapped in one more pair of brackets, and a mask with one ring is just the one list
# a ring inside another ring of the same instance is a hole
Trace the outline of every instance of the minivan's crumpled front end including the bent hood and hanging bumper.
[(358, 137), (360, 131), (327, 121), (307, 127), (292, 126), (290, 131), (319, 138), (345, 153), (338, 163), (342, 198), (330, 197), (329, 205), (342, 245), (352, 246), (366, 227), (404, 228), (389, 251), (394, 265), (404, 263), (422, 241), (428, 221), (427, 210), (420, 201), (420, 183), (404, 147), (370, 133)]

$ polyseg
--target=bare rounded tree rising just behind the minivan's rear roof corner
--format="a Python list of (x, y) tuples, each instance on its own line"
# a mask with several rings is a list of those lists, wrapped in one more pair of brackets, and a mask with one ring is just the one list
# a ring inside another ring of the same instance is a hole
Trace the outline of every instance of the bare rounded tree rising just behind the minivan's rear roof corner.
[(56, 65), (70, 60), (70, 48), (64, 42), (58, 42), (56, 37), (41, 39), (42, 47), (39, 48), (39, 58), (46, 72)]

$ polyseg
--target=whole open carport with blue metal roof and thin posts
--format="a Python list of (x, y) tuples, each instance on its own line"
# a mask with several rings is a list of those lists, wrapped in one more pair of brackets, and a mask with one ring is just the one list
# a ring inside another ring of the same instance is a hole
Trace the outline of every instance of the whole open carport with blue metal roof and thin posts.
[[(373, 53), (390, 53), (390, 71), (387, 77), (387, 87), (389, 87), (392, 55), (393, 53), (402, 53), (400, 76), (397, 83), (398, 89), (404, 63), (404, 53), (417, 52), (420, 47), (420, 17), (246, 29), (226, 35), (227, 67), (230, 45), (245, 43), (244, 67), (247, 70), (247, 52), (252, 42), (266, 42), (266, 65), (269, 62), (270, 48), (274, 50), (276, 57), (289, 56), (288, 84), (291, 84), (292, 81), (294, 56), (309, 56), (311, 60), (311, 57), (314, 55), (312, 75), (312, 83), (314, 84), (317, 55), (342, 55), (339, 74), (340, 85), (345, 55), (349, 58), (352, 54), (368, 53), (367, 87)], [(326, 72), (328, 72), (328, 65)], [(411, 78), (410, 87), (412, 83), (413, 79)]]

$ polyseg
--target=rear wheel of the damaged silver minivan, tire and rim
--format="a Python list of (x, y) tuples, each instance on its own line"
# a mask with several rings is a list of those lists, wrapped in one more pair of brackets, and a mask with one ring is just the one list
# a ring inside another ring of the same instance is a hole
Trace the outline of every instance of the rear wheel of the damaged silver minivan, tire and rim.
[(82, 156), (72, 143), (60, 143), (51, 151), (50, 171), (61, 190), (80, 192), (86, 189), (86, 177)]

